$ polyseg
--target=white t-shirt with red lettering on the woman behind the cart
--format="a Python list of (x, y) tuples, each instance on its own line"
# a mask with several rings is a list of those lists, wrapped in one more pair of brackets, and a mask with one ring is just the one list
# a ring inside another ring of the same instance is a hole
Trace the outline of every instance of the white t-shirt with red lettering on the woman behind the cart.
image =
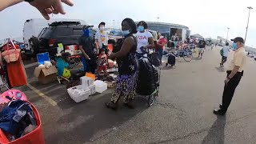
[(141, 47), (149, 45), (149, 38), (153, 38), (153, 35), (149, 31), (144, 33), (137, 32), (136, 37), (138, 39), (137, 53), (142, 53)]

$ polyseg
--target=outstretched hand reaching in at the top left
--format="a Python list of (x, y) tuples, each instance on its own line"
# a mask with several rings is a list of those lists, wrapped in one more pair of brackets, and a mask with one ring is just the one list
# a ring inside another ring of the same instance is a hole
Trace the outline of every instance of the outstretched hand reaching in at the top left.
[(30, 5), (37, 8), (42, 16), (49, 20), (49, 14), (66, 14), (62, 2), (68, 6), (74, 5), (73, 0), (34, 0), (34, 2), (30, 2)]

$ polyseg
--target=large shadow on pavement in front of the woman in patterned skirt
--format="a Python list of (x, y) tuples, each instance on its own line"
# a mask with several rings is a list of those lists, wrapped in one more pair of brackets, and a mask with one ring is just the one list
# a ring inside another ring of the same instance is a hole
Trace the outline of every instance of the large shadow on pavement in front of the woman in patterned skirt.
[[(111, 94), (98, 98), (94, 101), (75, 103), (71, 102), (70, 112), (58, 118), (52, 123), (54, 132), (46, 138), (47, 143), (85, 143), (94, 142), (106, 136), (111, 131), (118, 129), (118, 126), (133, 118), (136, 114), (146, 110), (146, 100), (135, 98), (136, 109), (130, 110), (122, 106), (122, 98), (118, 110), (110, 110), (104, 105), (110, 101)], [(62, 103), (66, 105), (69, 100)]]

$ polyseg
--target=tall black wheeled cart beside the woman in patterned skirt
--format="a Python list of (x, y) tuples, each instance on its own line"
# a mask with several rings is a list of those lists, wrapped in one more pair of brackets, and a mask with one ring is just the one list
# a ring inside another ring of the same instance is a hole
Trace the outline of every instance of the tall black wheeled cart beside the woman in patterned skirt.
[(152, 106), (158, 97), (160, 86), (160, 67), (153, 65), (150, 58), (141, 57), (138, 59), (139, 73), (136, 93), (146, 96), (148, 106)]

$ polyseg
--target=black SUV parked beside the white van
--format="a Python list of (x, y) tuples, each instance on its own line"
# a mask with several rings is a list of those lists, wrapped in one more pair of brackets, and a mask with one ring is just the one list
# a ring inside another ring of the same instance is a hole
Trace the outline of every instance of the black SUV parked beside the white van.
[[(82, 34), (80, 22), (53, 22), (38, 35), (38, 46), (33, 48), (34, 54), (49, 52), (50, 56), (54, 56), (57, 54), (58, 43), (63, 46), (78, 45)], [(96, 31), (90, 29), (90, 35), (95, 34)]]

